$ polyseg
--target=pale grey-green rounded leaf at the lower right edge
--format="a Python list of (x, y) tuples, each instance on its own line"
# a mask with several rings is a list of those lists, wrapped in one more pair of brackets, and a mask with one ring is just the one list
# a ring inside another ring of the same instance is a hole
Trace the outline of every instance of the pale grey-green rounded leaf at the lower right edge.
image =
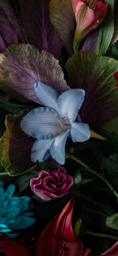
[(118, 230), (118, 213), (113, 214), (110, 217), (106, 218), (106, 226)]

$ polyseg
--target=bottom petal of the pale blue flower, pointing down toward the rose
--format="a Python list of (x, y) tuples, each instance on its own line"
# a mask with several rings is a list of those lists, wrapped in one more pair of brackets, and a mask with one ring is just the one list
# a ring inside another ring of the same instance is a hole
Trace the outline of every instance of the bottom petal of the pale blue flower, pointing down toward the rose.
[(70, 131), (67, 130), (63, 135), (56, 137), (50, 147), (50, 154), (52, 158), (60, 164), (64, 164), (65, 162), (65, 143), (69, 132)]

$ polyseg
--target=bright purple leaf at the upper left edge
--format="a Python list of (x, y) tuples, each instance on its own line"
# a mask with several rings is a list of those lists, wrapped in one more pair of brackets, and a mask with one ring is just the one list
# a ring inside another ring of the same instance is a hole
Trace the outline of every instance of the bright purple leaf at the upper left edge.
[[(0, 35), (5, 46), (18, 43), (15, 28), (9, 23), (5, 13), (0, 9)], [(0, 40), (2, 42), (2, 40)], [(3, 44), (2, 44), (3, 46)], [(4, 51), (4, 47), (0, 47), (0, 53)]]

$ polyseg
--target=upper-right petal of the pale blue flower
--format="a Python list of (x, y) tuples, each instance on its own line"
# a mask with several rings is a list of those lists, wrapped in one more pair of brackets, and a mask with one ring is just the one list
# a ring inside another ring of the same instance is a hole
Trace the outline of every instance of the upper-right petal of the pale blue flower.
[(67, 117), (70, 123), (73, 123), (83, 103), (84, 96), (85, 91), (82, 89), (70, 89), (61, 93), (57, 101), (60, 115)]

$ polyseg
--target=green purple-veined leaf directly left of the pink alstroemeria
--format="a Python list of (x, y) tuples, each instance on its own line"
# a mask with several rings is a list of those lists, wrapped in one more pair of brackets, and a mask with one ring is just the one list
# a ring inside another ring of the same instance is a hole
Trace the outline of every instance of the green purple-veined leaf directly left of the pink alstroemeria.
[(49, 4), (50, 21), (69, 55), (73, 55), (73, 37), (76, 28), (71, 0), (51, 0)]

